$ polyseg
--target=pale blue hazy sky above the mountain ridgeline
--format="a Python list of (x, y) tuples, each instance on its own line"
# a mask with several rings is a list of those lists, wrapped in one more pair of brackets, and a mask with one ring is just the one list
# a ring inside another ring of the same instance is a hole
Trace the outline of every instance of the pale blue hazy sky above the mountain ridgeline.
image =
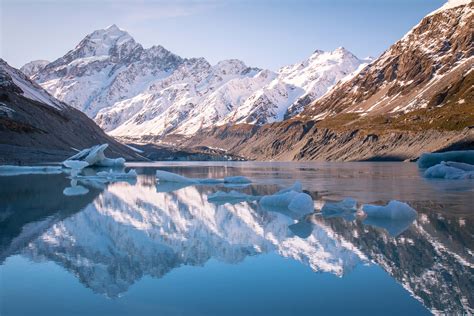
[(377, 57), (445, 0), (0, 0), (1, 57), (53, 61), (111, 24), (145, 48), (277, 70), (316, 49)]

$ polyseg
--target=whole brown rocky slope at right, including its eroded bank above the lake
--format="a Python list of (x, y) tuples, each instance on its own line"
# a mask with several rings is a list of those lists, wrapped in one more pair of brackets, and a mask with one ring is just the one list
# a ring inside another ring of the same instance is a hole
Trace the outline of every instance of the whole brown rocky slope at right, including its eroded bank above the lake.
[(473, 12), (471, 1), (448, 2), (287, 121), (215, 127), (183, 146), (263, 160), (404, 160), (474, 148)]

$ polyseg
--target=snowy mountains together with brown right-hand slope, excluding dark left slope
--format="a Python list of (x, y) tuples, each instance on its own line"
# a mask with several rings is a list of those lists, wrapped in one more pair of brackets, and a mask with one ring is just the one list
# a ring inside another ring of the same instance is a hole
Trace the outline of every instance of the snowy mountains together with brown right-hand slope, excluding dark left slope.
[(250, 160), (413, 159), (474, 147), (473, 11), (450, 0), (376, 59), (316, 50), (277, 72), (144, 48), (116, 25), (21, 69), (126, 142)]

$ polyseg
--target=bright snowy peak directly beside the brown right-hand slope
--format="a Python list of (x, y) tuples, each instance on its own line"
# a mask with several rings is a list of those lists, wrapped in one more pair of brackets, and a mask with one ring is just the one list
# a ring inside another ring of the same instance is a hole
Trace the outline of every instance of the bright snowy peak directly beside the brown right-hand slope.
[(272, 82), (255, 91), (224, 121), (250, 124), (282, 121), (300, 113), (305, 105), (370, 61), (358, 59), (343, 47), (332, 52), (317, 50), (301, 63), (281, 68)]

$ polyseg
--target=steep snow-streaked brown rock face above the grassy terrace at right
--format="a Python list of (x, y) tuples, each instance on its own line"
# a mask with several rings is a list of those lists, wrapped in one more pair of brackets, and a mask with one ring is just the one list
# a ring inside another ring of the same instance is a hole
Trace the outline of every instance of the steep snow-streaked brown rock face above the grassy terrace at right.
[(375, 115), (426, 106), (437, 91), (473, 67), (473, 12), (471, 3), (428, 15), (358, 76), (339, 84), (301, 116), (327, 111)]

